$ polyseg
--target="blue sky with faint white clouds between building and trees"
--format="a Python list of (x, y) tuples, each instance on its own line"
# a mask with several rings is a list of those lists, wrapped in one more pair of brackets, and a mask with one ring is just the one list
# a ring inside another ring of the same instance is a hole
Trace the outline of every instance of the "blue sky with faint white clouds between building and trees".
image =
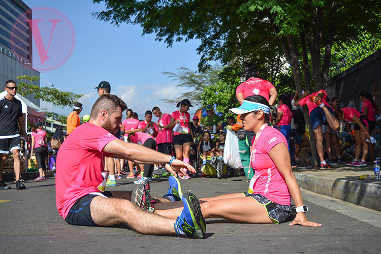
[[(62, 67), (40, 74), (40, 86), (84, 94), (79, 100), (84, 110), (80, 116), (90, 114), (91, 106), (98, 98), (94, 89), (101, 81), (111, 84), (111, 93), (121, 97), (129, 108), (144, 119), (144, 112), (154, 106), (164, 113), (175, 111), (176, 105), (165, 104), (160, 99), (174, 99), (184, 88), (176, 88), (176, 82), (162, 72), (176, 72), (184, 66), (197, 70), (200, 55), (196, 48), (199, 41), (175, 43), (167, 48), (164, 42), (155, 41), (155, 36), (142, 36), (142, 28), (130, 24), (119, 27), (94, 19), (92, 12), (105, 10), (103, 4), (90, 0), (24, 0), (31, 9), (52, 7), (71, 21), (75, 30), (76, 45), (71, 58)], [(46, 47), (47, 41), (44, 40)], [(37, 51), (34, 51), (36, 54)], [(41, 102), (42, 108), (50, 110), (50, 103)], [(68, 115), (73, 109), (55, 106), (54, 112)], [(189, 110), (193, 114), (196, 109)], [(157, 120), (153, 116), (153, 120)]]

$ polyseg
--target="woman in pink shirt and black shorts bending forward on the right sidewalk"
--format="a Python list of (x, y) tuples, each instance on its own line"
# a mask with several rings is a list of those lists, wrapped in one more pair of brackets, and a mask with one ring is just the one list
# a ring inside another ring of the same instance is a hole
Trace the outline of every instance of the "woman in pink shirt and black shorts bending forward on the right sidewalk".
[[(359, 111), (354, 108), (342, 108), (341, 110), (335, 110), (335, 117), (339, 121), (344, 121), (348, 132), (352, 134), (350, 123), (355, 122), (355, 140), (356, 140), (356, 155), (352, 162), (347, 163), (348, 166), (366, 166), (366, 155), (368, 154), (368, 144), (366, 140), (370, 140), (369, 137), (369, 120), (365, 115), (361, 115)], [(353, 138), (353, 137), (352, 137)], [(362, 157), (359, 161), (362, 145)]]

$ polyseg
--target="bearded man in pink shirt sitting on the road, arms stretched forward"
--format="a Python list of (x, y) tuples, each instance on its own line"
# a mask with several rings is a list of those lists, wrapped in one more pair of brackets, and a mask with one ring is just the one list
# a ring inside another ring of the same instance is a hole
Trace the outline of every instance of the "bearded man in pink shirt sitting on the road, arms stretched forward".
[[(183, 195), (184, 212), (175, 220), (143, 211), (130, 202), (132, 192), (104, 191), (107, 180), (105, 156), (138, 163), (168, 163), (167, 169), (175, 176), (177, 173), (185, 174), (183, 168), (196, 172), (192, 166), (171, 155), (117, 139), (114, 134), (121, 127), (125, 109), (126, 105), (120, 98), (104, 94), (93, 105), (89, 122), (75, 129), (62, 143), (56, 163), (56, 206), (59, 215), (72, 225), (112, 226), (125, 223), (143, 234), (177, 233), (205, 237), (201, 208), (192, 194)], [(142, 200), (139, 205), (150, 201), (147, 184), (148, 181), (137, 186), (135, 200), (137, 197)]]

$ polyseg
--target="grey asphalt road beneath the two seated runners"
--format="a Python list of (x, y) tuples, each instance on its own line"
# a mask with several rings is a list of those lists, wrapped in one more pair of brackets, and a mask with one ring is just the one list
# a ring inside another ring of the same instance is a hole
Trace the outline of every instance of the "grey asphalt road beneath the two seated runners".
[[(243, 177), (180, 180), (199, 198), (244, 192)], [(71, 226), (55, 207), (54, 178), (25, 181), (26, 189), (0, 190), (0, 253), (380, 253), (381, 212), (302, 190), (307, 218), (319, 228), (232, 223), (207, 219), (207, 238), (142, 235), (126, 225)], [(132, 190), (133, 179), (109, 190)], [(166, 179), (151, 194), (167, 192)], [(8, 201), (7, 201), (8, 200)]]

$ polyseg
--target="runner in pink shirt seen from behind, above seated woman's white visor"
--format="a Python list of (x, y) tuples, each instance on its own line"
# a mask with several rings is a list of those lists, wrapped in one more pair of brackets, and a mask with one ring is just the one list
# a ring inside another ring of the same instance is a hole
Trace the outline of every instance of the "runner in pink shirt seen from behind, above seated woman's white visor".
[(246, 65), (246, 81), (236, 89), (236, 98), (240, 104), (242, 104), (244, 98), (256, 94), (265, 97), (271, 105), (275, 103), (278, 96), (275, 86), (267, 80), (258, 78), (258, 74), (259, 72), (255, 63), (248, 63)]

